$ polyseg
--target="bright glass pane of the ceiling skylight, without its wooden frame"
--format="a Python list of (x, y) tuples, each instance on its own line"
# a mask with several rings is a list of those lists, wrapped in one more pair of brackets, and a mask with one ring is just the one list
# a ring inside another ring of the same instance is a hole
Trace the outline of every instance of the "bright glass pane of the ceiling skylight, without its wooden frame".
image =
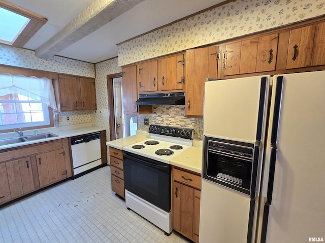
[(30, 19), (0, 8), (0, 42), (12, 45)]

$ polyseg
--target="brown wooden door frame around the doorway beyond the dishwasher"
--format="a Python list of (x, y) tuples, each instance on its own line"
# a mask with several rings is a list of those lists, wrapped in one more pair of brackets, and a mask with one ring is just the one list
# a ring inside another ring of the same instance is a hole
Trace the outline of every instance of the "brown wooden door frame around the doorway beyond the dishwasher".
[(108, 118), (110, 124), (110, 141), (115, 140), (115, 113), (114, 113), (114, 86), (113, 78), (122, 77), (122, 72), (109, 74), (107, 79), (107, 101), (108, 101)]

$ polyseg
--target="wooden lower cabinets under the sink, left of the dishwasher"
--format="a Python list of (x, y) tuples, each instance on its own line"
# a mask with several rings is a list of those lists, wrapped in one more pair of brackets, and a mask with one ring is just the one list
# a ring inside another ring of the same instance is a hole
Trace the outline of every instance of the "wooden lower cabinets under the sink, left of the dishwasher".
[(0, 152), (0, 205), (72, 176), (68, 138)]

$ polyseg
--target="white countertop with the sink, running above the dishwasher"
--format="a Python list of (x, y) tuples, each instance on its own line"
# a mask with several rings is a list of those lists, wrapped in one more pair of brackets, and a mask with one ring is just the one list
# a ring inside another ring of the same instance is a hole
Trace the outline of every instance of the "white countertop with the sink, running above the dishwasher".
[[(61, 139), (61, 138), (69, 138), (69, 137), (79, 136), (79, 135), (88, 134), (88, 133), (95, 133), (95, 132), (100, 132), (103, 130), (106, 130), (106, 129), (100, 128), (100, 127), (94, 127), (94, 126), (92, 126), (92, 123), (62, 126), (62, 127), (58, 127), (58, 128), (52, 127), (52, 128), (42, 128), (42, 129), (34, 129), (34, 130), (22, 130), (24, 135), (34, 135), (34, 134), (36, 134), (36, 131), (37, 131), (38, 134), (53, 133), (58, 136), (51, 137), (51, 138), (45, 138), (45, 139), (20, 142), (20, 143), (14, 143), (14, 144), (8, 144), (8, 145), (2, 145), (2, 146), (0, 146), (0, 150), (5, 149), (5, 148), (14, 148), (14, 147), (18, 147), (18, 146), (22, 146), (22, 145), (26, 145), (26, 144), (34, 144), (34, 143), (51, 141), (51, 140), (56, 140), (56, 139)], [(0, 139), (13, 138), (13, 137), (19, 137), (19, 136), (15, 132), (0, 134)]]

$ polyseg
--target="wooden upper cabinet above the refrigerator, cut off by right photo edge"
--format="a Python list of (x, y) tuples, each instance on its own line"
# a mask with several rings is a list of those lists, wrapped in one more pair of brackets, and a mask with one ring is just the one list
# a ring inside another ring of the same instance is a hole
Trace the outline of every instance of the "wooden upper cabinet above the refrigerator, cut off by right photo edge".
[(325, 22), (290, 31), (286, 68), (325, 65)]

